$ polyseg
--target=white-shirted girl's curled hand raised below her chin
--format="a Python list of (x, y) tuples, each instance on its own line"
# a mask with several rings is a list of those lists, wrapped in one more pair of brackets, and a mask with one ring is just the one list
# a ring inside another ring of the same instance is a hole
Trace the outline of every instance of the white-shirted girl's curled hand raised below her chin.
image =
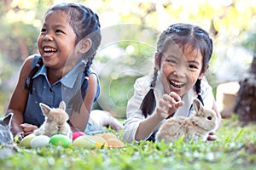
[(173, 113), (183, 105), (184, 102), (178, 94), (174, 92), (171, 92), (169, 95), (164, 94), (163, 98), (160, 99), (159, 107), (156, 108), (156, 114), (160, 116), (161, 119), (165, 119), (168, 116), (172, 116)]

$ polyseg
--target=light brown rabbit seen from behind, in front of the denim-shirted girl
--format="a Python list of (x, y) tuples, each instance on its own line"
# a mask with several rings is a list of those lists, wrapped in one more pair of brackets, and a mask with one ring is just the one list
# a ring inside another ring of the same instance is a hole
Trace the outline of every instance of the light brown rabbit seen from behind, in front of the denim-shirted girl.
[(49, 108), (48, 105), (43, 103), (39, 104), (41, 110), (44, 113), (45, 121), (34, 131), (35, 135), (46, 135), (46, 136), (53, 136), (55, 134), (64, 134), (69, 139), (72, 139), (72, 131), (67, 123), (68, 115), (66, 110), (66, 104), (64, 101), (61, 101), (59, 108)]

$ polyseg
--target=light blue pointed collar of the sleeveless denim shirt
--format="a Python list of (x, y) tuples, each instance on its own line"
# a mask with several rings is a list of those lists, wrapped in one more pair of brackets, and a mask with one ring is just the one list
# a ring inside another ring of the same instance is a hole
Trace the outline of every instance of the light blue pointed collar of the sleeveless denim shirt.
[[(81, 80), (81, 78), (82, 78), (81, 75), (83, 74), (85, 65), (86, 64), (84, 63), (84, 61), (79, 61), (79, 63), (77, 65), (75, 65), (73, 67), (73, 69), (67, 73), (67, 75), (62, 77), (61, 80), (59, 80), (57, 82), (61, 82), (67, 88), (73, 88), (75, 82), (77, 82), (78, 80)], [(47, 82), (49, 82), (47, 74), (46, 74), (45, 65), (43, 65), (32, 78), (34, 79), (39, 76), (44, 76), (45, 79), (47, 80)], [(79, 78), (79, 77), (81, 77), (81, 78)], [(54, 84), (56, 84), (57, 82), (55, 82)]]

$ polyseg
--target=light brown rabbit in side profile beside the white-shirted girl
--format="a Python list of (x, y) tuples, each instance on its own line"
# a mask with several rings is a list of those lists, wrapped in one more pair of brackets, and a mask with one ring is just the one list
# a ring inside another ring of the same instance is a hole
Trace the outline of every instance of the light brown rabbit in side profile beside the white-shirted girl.
[(184, 141), (201, 137), (207, 140), (208, 133), (217, 127), (217, 117), (214, 111), (207, 110), (200, 100), (194, 99), (195, 113), (189, 117), (177, 116), (167, 119), (156, 133), (156, 141), (164, 139), (165, 143), (174, 142), (180, 137)]

